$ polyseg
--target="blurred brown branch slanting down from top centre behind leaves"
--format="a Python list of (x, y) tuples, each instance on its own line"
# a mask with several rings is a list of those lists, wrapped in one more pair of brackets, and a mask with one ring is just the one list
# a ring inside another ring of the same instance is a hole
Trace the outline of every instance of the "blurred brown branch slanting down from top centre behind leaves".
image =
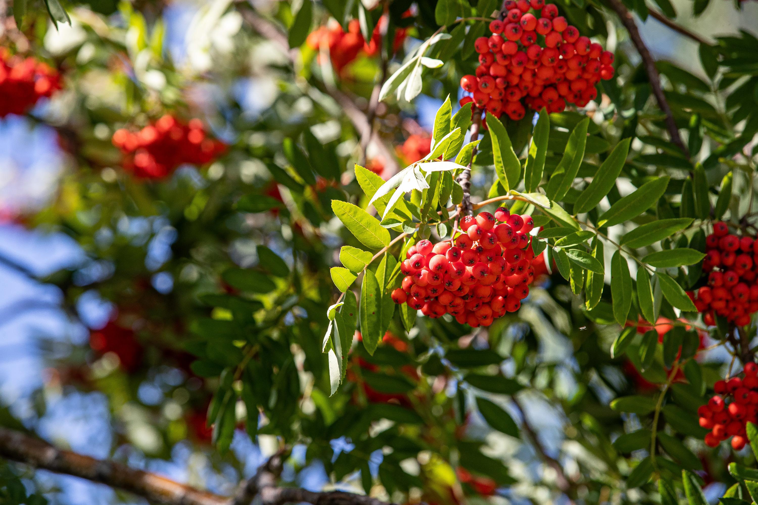
[[(245, 20), (253, 30), (264, 36), (266, 39), (276, 42), (290, 57), (290, 61), (293, 63), (296, 61), (299, 55), (299, 50), (296, 48), (290, 48), (290, 44), (287, 42), (287, 36), (285, 36), (274, 23), (258, 16), (249, 5), (245, 4), (245, 2), (237, 2), (237, 11), (240, 12), (243, 20)], [(369, 120), (366, 114), (355, 104), (355, 102), (340, 90), (327, 87), (326, 93), (340, 105), (345, 116), (358, 131), (359, 137), (361, 139), (364, 137), (365, 139), (368, 139), (366, 145), (371, 142), (376, 145), (379, 155), (384, 158), (385, 170), (391, 174), (397, 173), (400, 168), (399, 164), (397, 163), (394, 154), (389, 148), (387, 148), (387, 145), (384, 144), (384, 141), (379, 134), (374, 131), (374, 128), (371, 126), (373, 120)]]

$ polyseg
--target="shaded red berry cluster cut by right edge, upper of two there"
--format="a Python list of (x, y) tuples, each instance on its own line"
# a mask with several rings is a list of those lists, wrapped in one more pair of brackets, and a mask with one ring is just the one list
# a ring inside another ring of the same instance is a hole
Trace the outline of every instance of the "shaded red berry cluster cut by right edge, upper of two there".
[(732, 235), (726, 223), (713, 224), (713, 233), (706, 237), (703, 273), (708, 285), (688, 291), (703, 313), (703, 322), (716, 324), (716, 315), (737, 326), (750, 324), (750, 316), (758, 311), (758, 241), (747, 236)]

